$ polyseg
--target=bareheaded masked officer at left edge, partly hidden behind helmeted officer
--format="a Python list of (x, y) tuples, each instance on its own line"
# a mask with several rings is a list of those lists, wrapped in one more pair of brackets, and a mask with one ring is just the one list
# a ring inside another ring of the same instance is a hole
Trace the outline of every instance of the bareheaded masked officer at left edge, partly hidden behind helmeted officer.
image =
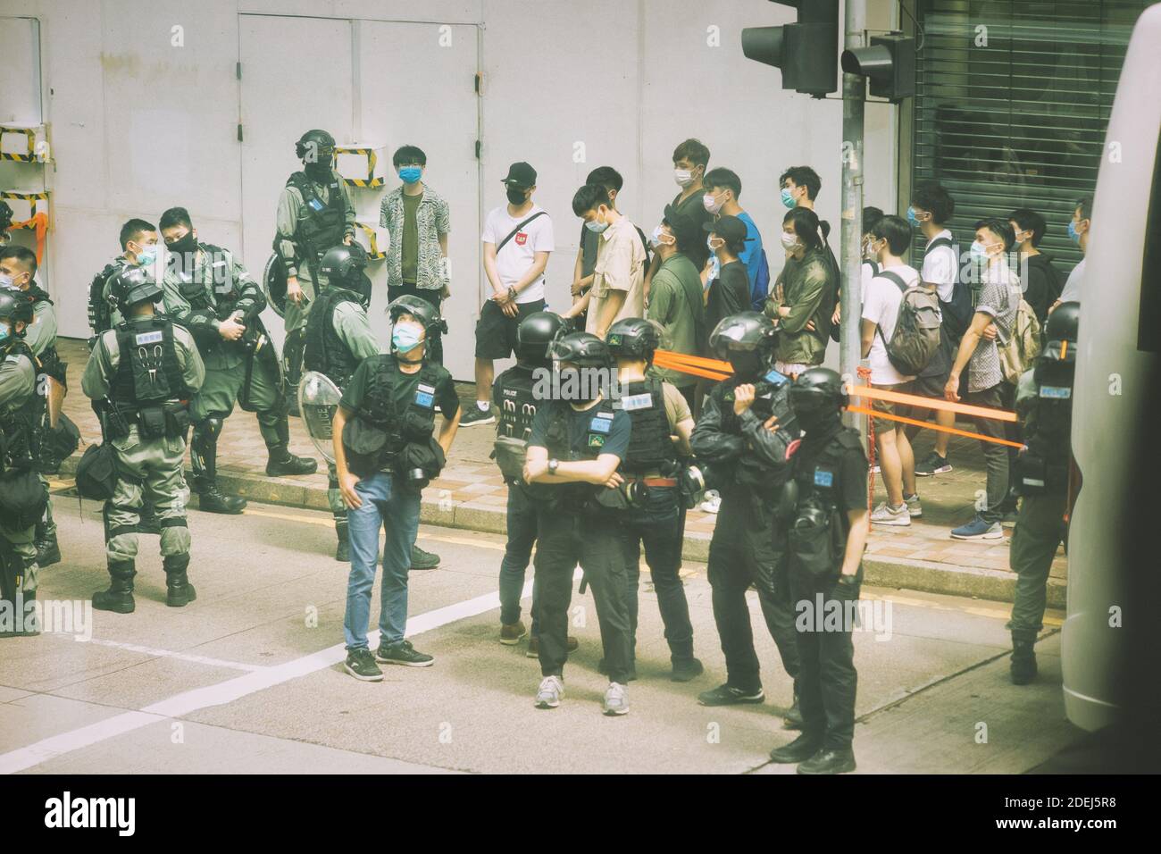
[[(45, 430), (56, 426), (67, 392), (68, 365), (57, 353), (57, 309), (49, 294), (36, 281), (36, 253), (24, 246), (0, 250), (0, 285), (19, 290), (33, 308), (33, 322), (24, 332), (24, 343), (36, 357), (38, 373), (37, 394), (45, 399), (45, 411), (36, 426), (37, 466), (41, 465), (41, 443)], [(45, 423), (48, 421), (48, 423)], [(44, 479), (41, 479), (44, 481)], [(48, 481), (44, 481), (48, 489)], [(60, 561), (57, 544), (57, 523), (52, 521), (52, 498), (44, 509), (44, 518), (36, 523), (36, 562), (39, 568)]]

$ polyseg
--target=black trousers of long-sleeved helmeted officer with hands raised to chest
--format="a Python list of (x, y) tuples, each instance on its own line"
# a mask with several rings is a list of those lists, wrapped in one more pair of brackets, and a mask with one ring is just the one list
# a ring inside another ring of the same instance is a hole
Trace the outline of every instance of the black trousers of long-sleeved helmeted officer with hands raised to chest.
[(750, 608), (745, 593), (753, 584), (766, 629), (778, 646), (783, 667), (798, 683), (799, 647), (794, 636), (794, 610), (785, 555), (773, 547), (773, 512), (750, 493), (735, 488), (722, 495), (717, 522), (709, 540), (709, 586), (714, 622), (726, 655), (726, 682), (731, 688), (762, 688), (758, 655), (753, 650)]

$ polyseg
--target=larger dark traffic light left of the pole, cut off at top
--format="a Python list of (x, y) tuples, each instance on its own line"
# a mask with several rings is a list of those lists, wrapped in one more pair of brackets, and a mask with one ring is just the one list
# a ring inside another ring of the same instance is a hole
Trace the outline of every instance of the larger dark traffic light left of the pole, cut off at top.
[(798, 22), (747, 27), (742, 52), (783, 71), (783, 88), (822, 98), (838, 91), (838, 0), (770, 0), (798, 9)]

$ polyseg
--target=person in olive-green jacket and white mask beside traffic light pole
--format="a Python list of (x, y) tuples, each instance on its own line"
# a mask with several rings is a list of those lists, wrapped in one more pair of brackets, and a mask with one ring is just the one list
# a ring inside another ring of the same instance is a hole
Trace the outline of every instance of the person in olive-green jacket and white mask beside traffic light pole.
[(806, 207), (792, 208), (783, 218), (786, 266), (766, 300), (765, 314), (779, 326), (774, 367), (792, 378), (821, 365), (827, 353), (837, 281), (827, 257), (829, 231)]

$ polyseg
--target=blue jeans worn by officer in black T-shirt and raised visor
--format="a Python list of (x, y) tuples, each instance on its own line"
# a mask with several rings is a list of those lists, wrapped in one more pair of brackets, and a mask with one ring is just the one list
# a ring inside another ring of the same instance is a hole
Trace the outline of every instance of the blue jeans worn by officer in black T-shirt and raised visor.
[(347, 612), (342, 620), (347, 650), (367, 648), (370, 590), (378, 564), (378, 529), (387, 531), (383, 545), (383, 584), (380, 589), (381, 644), (403, 640), (408, 625), (408, 570), (411, 547), (419, 532), (419, 493), (397, 489), (390, 474), (377, 472), (355, 485), (362, 507), (347, 510), (351, 537), (351, 579)]

